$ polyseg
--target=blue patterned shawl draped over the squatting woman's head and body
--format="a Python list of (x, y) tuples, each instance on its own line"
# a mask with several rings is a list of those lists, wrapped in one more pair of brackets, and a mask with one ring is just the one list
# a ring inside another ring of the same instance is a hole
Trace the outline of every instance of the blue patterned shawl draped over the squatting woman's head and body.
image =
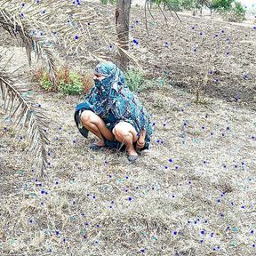
[(106, 76), (106, 78), (102, 81), (95, 81), (95, 86), (85, 96), (84, 102), (76, 106), (75, 121), (81, 134), (85, 138), (88, 136), (88, 130), (80, 120), (81, 111), (92, 110), (102, 119), (107, 117), (111, 111), (116, 117), (116, 124), (120, 121), (132, 124), (138, 138), (140, 132), (143, 129), (146, 130), (144, 149), (148, 149), (150, 137), (154, 132), (150, 116), (142, 107), (137, 95), (129, 90), (124, 73), (112, 62), (100, 62), (94, 69), (94, 73)]

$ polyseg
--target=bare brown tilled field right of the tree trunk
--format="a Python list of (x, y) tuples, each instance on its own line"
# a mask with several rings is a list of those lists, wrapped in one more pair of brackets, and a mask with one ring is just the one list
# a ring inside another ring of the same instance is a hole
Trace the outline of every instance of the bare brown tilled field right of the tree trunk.
[(137, 57), (142, 59), (148, 76), (164, 78), (166, 72), (166, 82), (170, 80), (180, 86), (181, 81), (182, 89), (191, 92), (195, 84), (185, 81), (191, 77), (200, 83), (206, 75), (208, 96), (239, 101), (255, 109), (256, 29), (253, 26), (243, 28), (227, 22), (186, 16), (180, 16), (180, 24), (169, 15), (167, 27), (163, 16), (154, 10), (156, 23), (148, 15), (148, 36), (145, 20), (139, 13), (132, 12), (132, 21), (140, 17), (140, 23), (132, 22), (135, 28), (131, 29), (131, 35), (140, 42), (137, 52), (147, 49), (145, 54)]

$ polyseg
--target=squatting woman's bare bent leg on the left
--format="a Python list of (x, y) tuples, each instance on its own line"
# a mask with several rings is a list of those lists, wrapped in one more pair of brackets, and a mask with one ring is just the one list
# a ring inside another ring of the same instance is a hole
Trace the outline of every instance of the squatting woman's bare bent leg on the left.
[[(86, 129), (88, 129), (90, 132), (100, 138), (100, 141), (96, 143), (97, 145), (104, 146), (104, 140), (102, 135), (109, 141), (115, 140), (114, 134), (107, 128), (104, 121), (100, 118), (100, 116), (97, 116), (91, 110), (83, 111), (81, 115), (81, 121)], [(102, 135), (100, 134), (100, 132)]]

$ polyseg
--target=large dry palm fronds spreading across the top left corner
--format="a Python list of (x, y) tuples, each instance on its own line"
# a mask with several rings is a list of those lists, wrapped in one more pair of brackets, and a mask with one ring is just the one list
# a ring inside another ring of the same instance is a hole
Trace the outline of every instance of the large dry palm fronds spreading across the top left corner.
[[(9, 25), (12, 30), (9, 32), (12, 34), (20, 33), (22, 37), (30, 36), (29, 40), (32, 38), (37, 43), (40, 42), (36, 47), (41, 46), (39, 49), (44, 49), (46, 56), (49, 53), (47, 50), (50, 51), (52, 46), (60, 46), (62, 49), (64, 47), (66, 54), (72, 54), (74, 57), (83, 55), (84, 60), (90, 60), (91, 53), (100, 53), (106, 60), (110, 53), (117, 53), (122, 46), (116, 42), (115, 24), (110, 24), (109, 20), (105, 19), (106, 7), (79, 1), (74, 3), (67, 0), (0, 0), (0, 26), (6, 29)], [(116, 49), (109, 52), (109, 45), (113, 44)], [(30, 49), (31, 47), (28, 47), (28, 50)], [(47, 64), (49, 70), (52, 70), (52, 58), (48, 57)], [(127, 57), (135, 60), (131, 54)], [(134, 62), (138, 65), (137, 61)]]

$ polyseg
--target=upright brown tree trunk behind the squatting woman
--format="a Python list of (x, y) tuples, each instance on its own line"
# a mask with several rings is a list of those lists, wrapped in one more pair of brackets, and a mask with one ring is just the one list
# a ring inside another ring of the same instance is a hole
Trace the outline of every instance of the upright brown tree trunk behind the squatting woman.
[[(118, 44), (125, 51), (129, 50), (129, 25), (132, 0), (117, 0), (116, 3), (116, 32)], [(119, 49), (117, 62), (124, 71), (128, 67), (129, 58)]]

